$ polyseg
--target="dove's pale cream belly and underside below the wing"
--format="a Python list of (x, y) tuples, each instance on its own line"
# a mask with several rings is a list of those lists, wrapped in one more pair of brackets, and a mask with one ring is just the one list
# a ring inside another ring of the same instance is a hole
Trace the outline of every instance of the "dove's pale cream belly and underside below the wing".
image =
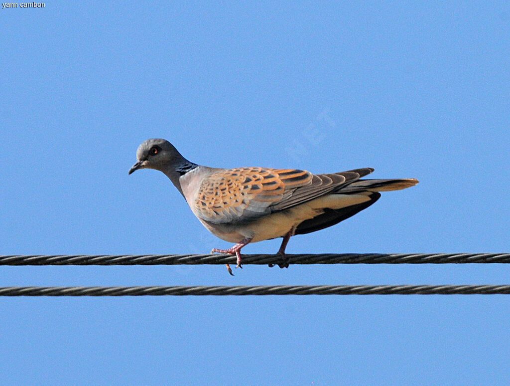
[(212, 224), (200, 222), (215, 236), (229, 243), (239, 243), (244, 238), (252, 238), (257, 243), (270, 238), (283, 237), (291, 229), (305, 220), (323, 213), (324, 208), (339, 209), (369, 200), (366, 195), (328, 195), (293, 208), (271, 213), (249, 223)]

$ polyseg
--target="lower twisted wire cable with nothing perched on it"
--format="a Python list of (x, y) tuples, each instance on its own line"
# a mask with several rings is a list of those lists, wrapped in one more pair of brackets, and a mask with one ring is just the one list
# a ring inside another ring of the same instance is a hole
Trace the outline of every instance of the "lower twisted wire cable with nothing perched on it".
[(494, 295), (510, 285), (262, 285), (137, 287), (0, 287), (0, 296), (203, 295)]

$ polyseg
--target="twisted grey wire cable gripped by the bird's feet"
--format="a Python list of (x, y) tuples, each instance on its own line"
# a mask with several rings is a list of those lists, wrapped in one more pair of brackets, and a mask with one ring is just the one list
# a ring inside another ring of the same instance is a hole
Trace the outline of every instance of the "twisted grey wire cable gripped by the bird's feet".
[[(510, 253), (289, 254), (290, 264), (510, 263)], [(0, 266), (132, 266), (234, 264), (236, 257), (206, 255), (0, 255)], [(244, 264), (278, 264), (279, 255), (243, 255)]]

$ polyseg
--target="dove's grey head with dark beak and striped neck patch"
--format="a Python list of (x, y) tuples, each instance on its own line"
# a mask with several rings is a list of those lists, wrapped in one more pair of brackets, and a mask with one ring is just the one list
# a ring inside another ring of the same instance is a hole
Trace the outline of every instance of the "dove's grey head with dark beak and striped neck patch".
[(138, 161), (131, 167), (129, 174), (139, 169), (159, 170), (166, 174), (180, 191), (179, 177), (198, 166), (184, 158), (170, 142), (162, 138), (147, 139), (140, 144), (136, 158)]

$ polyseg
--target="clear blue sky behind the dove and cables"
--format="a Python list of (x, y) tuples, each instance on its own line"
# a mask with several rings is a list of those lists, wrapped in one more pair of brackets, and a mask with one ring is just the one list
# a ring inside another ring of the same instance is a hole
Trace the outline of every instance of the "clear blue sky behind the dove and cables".
[[(289, 253), (510, 252), (507, 2), (2, 9), (0, 254), (229, 245), (156, 171), (420, 180)], [(274, 253), (280, 240), (245, 253)], [(503, 264), (0, 267), (0, 285), (508, 284)], [(508, 384), (505, 296), (0, 298), (0, 383)]]

